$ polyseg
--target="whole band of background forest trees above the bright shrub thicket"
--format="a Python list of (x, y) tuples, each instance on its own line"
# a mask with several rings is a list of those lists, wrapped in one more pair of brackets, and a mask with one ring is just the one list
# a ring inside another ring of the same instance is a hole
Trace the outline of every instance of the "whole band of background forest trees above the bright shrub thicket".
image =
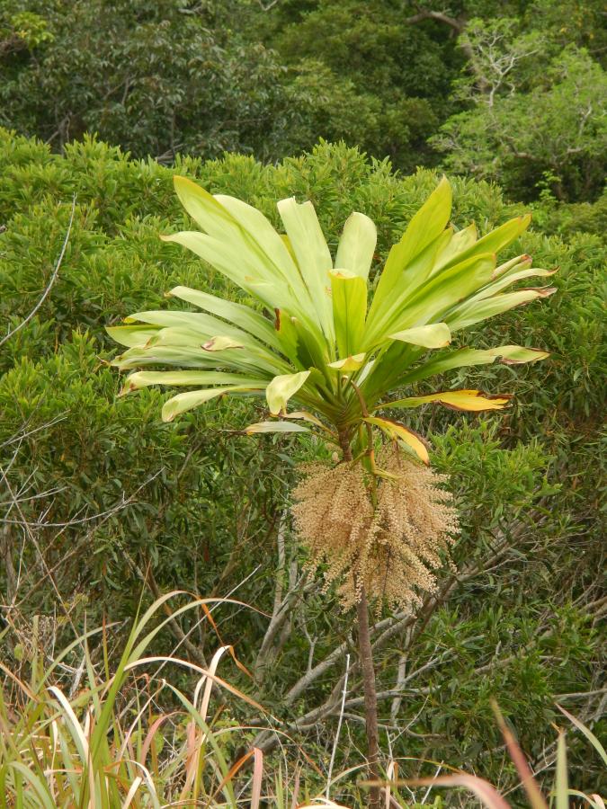
[(607, 152), (597, 0), (6, 0), (0, 123), (170, 162), (343, 139), (513, 199), (594, 201)]

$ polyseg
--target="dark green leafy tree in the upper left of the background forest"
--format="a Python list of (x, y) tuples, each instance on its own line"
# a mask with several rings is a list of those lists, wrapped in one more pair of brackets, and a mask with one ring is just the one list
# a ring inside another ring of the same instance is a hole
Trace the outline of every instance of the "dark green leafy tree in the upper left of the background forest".
[(5, 126), (59, 147), (96, 132), (165, 160), (177, 151), (274, 154), (274, 121), (289, 121), (283, 68), (263, 46), (211, 31), (200, 5), (138, 0), (113, 3), (111, 13), (103, 0), (69, 13), (60, 0), (27, 5), (49, 35), (36, 58), (6, 58)]

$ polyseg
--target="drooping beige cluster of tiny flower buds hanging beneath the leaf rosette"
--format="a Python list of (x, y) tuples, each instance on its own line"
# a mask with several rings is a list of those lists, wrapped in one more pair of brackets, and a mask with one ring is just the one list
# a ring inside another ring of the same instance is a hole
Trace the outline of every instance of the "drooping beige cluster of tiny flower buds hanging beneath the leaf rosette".
[(433, 571), (459, 531), (446, 476), (384, 445), (378, 464), (389, 477), (375, 478), (360, 462), (331, 467), (308, 464), (293, 496), (295, 528), (308, 547), (310, 566), (322, 566), (326, 587), (337, 582), (347, 609), (364, 586), (379, 608), (410, 609), (420, 592), (436, 588)]

